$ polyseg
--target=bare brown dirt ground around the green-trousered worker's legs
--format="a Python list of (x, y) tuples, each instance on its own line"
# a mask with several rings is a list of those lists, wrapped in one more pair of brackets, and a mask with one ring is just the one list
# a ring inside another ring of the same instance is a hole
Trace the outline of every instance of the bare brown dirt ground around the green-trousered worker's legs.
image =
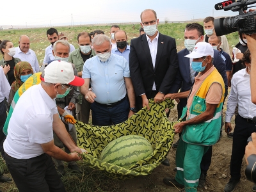
[[(227, 109), (227, 99), (223, 109), (223, 115)], [(170, 113), (170, 120), (177, 119), (177, 109), (173, 108)], [(232, 118), (232, 127), (234, 128), (234, 116)], [(179, 139), (179, 135), (175, 135), (175, 143)], [(227, 184), (230, 179), (230, 158), (232, 152), (232, 138), (228, 138), (225, 133), (224, 126), (222, 128), (222, 136), (218, 143), (212, 147), (212, 162), (211, 166), (207, 172), (206, 186), (204, 189), (198, 189), (198, 191), (209, 191), (209, 192), (219, 192), (223, 191), (225, 184)], [(151, 175), (146, 177), (136, 177), (131, 180), (125, 180), (122, 182), (124, 184), (122, 189), (124, 191), (134, 191), (134, 192), (144, 192), (144, 191), (169, 191), (176, 192), (179, 188), (173, 188), (166, 186), (163, 183), (163, 178), (174, 177), (175, 172), (175, 153), (176, 150), (171, 148), (168, 154), (168, 160), (170, 161), (170, 167), (160, 164), (156, 169), (153, 170)], [(253, 183), (246, 179), (244, 170), (246, 168), (246, 162), (243, 159), (243, 164), (241, 168), (241, 182), (237, 184), (234, 192), (247, 192), (252, 191)]]

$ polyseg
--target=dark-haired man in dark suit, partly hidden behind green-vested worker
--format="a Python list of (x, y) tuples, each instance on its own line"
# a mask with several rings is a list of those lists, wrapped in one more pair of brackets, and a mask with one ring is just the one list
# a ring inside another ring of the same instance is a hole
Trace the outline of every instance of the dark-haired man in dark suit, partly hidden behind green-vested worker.
[[(195, 40), (194, 43), (203, 42), (204, 40), (204, 28), (198, 23), (191, 23), (186, 26), (185, 32), (184, 32), (184, 38), (185, 38), (185, 46), (186, 49), (182, 49), (182, 51), (178, 52), (178, 59), (179, 59), (179, 72), (176, 76), (175, 83), (173, 83), (172, 88), (170, 89), (170, 93), (175, 93), (175, 97), (172, 97), (172, 99), (179, 99), (179, 104), (177, 106), (178, 109), (178, 118), (180, 118), (182, 109), (187, 105), (187, 97), (188, 97), (188, 91), (193, 86), (194, 82), (191, 81), (190, 76), (190, 63), (191, 61), (189, 58), (186, 58), (184, 56), (188, 55), (190, 51), (193, 50), (194, 47), (191, 45), (192, 41), (186, 42), (186, 40)], [(188, 50), (189, 49), (189, 50)], [(191, 50), (192, 49), (192, 50)], [(223, 81), (225, 83), (225, 96), (227, 96), (228, 93), (228, 80), (227, 80), (227, 74), (226, 74), (226, 63), (221, 58), (220, 51), (217, 51), (214, 49), (214, 59), (213, 63), (214, 67), (218, 70), (218, 72), (223, 77)], [(198, 73), (196, 72), (193, 77), (195, 77)], [(179, 92), (180, 93), (177, 93)], [(187, 93), (185, 93), (187, 92)], [(181, 96), (181, 97), (180, 97)], [(182, 98), (182, 99), (180, 99)], [(204, 188), (205, 181), (206, 181), (206, 175), (207, 170), (209, 169), (209, 166), (211, 165), (211, 157), (212, 157), (212, 146), (207, 150), (205, 155), (202, 158), (201, 163), (201, 177), (199, 180), (198, 188)]]

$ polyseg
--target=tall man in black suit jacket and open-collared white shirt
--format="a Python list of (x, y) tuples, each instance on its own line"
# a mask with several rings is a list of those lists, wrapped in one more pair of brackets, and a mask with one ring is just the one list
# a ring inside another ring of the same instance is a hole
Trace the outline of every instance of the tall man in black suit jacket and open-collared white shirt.
[(175, 39), (157, 31), (156, 12), (141, 13), (144, 35), (131, 40), (129, 66), (139, 109), (147, 106), (148, 99), (162, 102), (179, 70)]

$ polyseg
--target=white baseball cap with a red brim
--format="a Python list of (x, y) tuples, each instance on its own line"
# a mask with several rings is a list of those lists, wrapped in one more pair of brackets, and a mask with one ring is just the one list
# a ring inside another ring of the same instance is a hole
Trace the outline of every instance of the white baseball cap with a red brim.
[(44, 69), (44, 78), (41, 80), (45, 83), (61, 83), (74, 86), (82, 86), (84, 79), (74, 75), (74, 69), (71, 63), (61, 60), (52, 61)]

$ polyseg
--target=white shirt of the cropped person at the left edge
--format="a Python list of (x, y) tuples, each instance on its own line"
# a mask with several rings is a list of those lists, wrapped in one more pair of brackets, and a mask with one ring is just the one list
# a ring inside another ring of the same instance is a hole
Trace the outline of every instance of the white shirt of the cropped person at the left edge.
[(0, 67), (0, 102), (4, 100), (4, 97), (6, 100), (9, 99), (9, 93), (11, 90), (11, 86), (6, 79), (6, 76), (4, 75), (4, 70), (2, 67)]

